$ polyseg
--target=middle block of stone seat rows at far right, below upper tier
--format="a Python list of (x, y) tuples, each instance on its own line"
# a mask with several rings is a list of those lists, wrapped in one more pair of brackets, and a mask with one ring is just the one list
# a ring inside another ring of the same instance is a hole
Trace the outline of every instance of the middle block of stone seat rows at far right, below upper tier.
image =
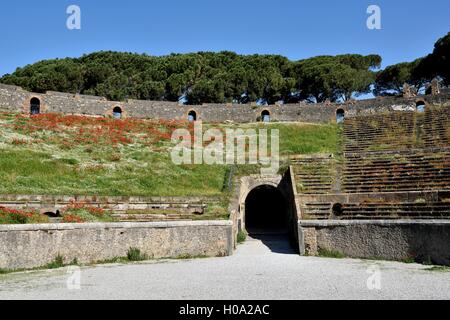
[(450, 186), (450, 148), (398, 154), (353, 154), (345, 158), (347, 193), (440, 190)]

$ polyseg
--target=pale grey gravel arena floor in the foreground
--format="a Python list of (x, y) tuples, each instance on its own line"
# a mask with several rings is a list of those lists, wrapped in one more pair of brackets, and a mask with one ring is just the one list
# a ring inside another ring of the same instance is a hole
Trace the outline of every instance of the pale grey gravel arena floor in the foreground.
[[(429, 269), (300, 257), (272, 236), (226, 258), (0, 275), (0, 299), (450, 299), (450, 272)], [(80, 274), (80, 288), (69, 289), (68, 271)]]

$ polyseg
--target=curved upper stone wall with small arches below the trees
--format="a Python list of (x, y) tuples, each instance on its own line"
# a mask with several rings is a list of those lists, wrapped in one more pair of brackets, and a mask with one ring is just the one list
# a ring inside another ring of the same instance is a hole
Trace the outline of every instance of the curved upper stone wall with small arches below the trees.
[(41, 113), (53, 112), (64, 114), (111, 116), (113, 109), (121, 108), (123, 117), (148, 119), (177, 119), (187, 120), (190, 111), (195, 111), (198, 120), (205, 122), (236, 123), (255, 122), (261, 118), (263, 111), (269, 111), (273, 121), (297, 121), (311, 123), (326, 123), (336, 120), (339, 109), (345, 111), (346, 116), (375, 114), (386, 111), (414, 111), (416, 103), (423, 101), (426, 104), (448, 104), (450, 92), (439, 95), (417, 96), (412, 98), (381, 97), (377, 99), (348, 101), (338, 103), (297, 103), (284, 105), (242, 105), (242, 104), (203, 104), (197, 106), (180, 105), (168, 101), (108, 101), (104, 97), (87, 95), (46, 92), (32, 93), (17, 86), (0, 84), (0, 111), (23, 112), (29, 114), (30, 100), (40, 100)]

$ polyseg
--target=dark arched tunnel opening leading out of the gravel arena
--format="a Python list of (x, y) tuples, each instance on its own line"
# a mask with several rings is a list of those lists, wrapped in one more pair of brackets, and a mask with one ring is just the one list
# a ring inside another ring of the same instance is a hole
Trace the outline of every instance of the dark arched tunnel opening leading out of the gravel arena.
[(287, 234), (288, 220), (286, 199), (276, 187), (263, 185), (248, 194), (245, 226), (249, 234)]

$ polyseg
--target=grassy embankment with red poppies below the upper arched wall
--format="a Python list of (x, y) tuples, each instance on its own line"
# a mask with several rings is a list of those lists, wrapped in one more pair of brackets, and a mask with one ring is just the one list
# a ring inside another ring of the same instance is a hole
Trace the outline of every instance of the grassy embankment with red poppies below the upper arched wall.
[[(335, 152), (338, 144), (335, 125), (217, 127), (279, 129), (281, 155)], [(177, 121), (0, 114), (0, 194), (226, 196), (227, 166), (172, 163), (170, 138), (177, 128), (193, 130)]]

